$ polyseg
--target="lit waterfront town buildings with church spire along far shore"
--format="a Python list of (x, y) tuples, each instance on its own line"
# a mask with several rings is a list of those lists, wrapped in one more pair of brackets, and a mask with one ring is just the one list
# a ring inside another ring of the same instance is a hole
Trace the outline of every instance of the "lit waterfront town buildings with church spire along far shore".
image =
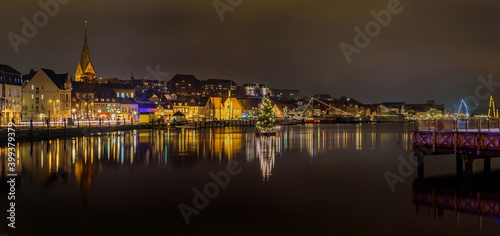
[[(309, 100), (301, 96), (299, 90), (270, 89), (260, 83), (238, 86), (231, 80), (199, 80), (185, 74), (176, 74), (168, 81), (135, 79), (133, 74), (126, 80), (98, 78), (87, 40), (87, 22), (74, 78), (50, 69), (31, 70), (23, 76), (8, 65), (2, 65), (1, 69), (3, 76), (0, 78), (5, 78), (1, 79), (3, 124), (14, 117), (18, 121), (43, 121), (50, 117), (54, 121), (161, 119), (168, 122), (178, 112), (188, 121), (241, 119), (258, 115), (259, 98), (262, 97), (271, 98), (279, 117), (291, 118), (302, 113), (301, 109), (306, 108)], [(315, 104), (314, 109), (308, 111), (311, 117), (345, 112), (376, 121), (376, 117), (384, 115), (402, 115), (406, 119), (448, 115), (444, 105), (435, 105), (433, 101), (426, 104), (362, 104), (346, 97), (335, 99), (329, 94), (317, 94), (314, 98), (328, 106)], [(22, 106), (12, 105), (18, 103)]]

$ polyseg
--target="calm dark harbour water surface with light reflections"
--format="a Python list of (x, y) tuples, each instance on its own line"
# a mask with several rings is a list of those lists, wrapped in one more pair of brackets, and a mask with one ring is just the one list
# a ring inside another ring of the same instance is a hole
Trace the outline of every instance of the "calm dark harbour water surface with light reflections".
[[(0, 233), (498, 235), (499, 219), (417, 208), (416, 170), (391, 190), (384, 173), (400, 175), (401, 158), (411, 156), (412, 128), (295, 126), (273, 138), (259, 138), (253, 128), (144, 130), (20, 143), (15, 230), (4, 217), (2, 147)], [(209, 173), (226, 170), (228, 162), (241, 172), (186, 224), (179, 204), (193, 207), (193, 189), (203, 191), (213, 182)], [(453, 155), (426, 160), (426, 178), (439, 183), (454, 173)]]

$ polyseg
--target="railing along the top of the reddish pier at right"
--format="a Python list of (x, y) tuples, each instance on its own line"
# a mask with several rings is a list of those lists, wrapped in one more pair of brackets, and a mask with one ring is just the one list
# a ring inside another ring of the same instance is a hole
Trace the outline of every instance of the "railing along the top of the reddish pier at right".
[(498, 118), (417, 120), (415, 131), (500, 132)]

